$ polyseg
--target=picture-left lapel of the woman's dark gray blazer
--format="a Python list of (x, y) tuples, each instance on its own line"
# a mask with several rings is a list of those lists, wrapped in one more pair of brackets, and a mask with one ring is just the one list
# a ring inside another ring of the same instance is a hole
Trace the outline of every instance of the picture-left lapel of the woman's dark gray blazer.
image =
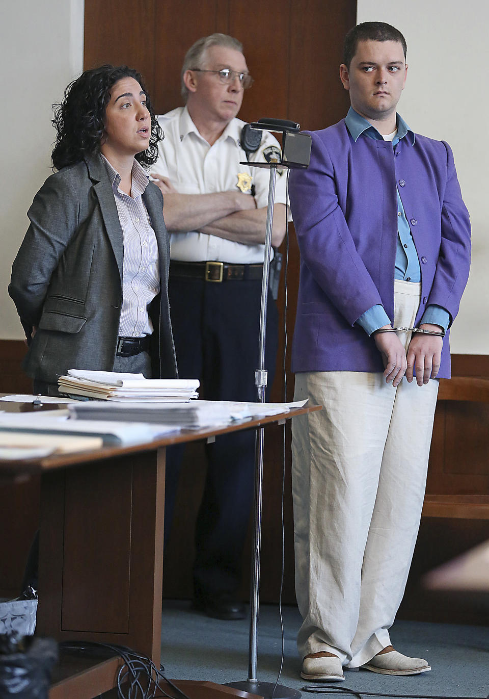
[(89, 178), (92, 180), (94, 192), (98, 199), (102, 212), (105, 231), (107, 231), (110, 245), (114, 251), (117, 268), (122, 284), (122, 264), (124, 261), (124, 237), (122, 236), (122, 228), (119, 222), (119, 214), (115, 205), (114, 192), (107, 170), (100, 156), (87, 159), (87, 168)]

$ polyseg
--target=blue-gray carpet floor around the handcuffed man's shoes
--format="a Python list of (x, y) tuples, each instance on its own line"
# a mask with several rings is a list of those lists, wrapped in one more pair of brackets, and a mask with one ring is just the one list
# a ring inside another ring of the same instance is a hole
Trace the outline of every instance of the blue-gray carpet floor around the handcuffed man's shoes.
[[(284, 607), (284, 665), (279, 684), (302, 690), (300, 658), (295, 636), (300, 626), (297, 607)], [(163, 600), (161, 662), (167, 677), (200, 679), (225, 684), (247, 679), (249, 621), (219, 621), (190, 609), (188, 602)], [(360, 670), (346, 672), (345, 681), (315, 683), (321, 687), (349, 687), (356, 692), (379, 692), (425, 697), (489, 695), (489, 628), (455, 624), (396, 621), (393, 646), (400, 652), (426, 658), (431, 672), (391, 677)], [(258, 680), (275, 682), (280, 668), (282, 640), (277, 605), (262, 605), (258, 624)], [(313, 696), (302, 691), (302, 696)], [(321, 691), (316, 696), (326, 696)]]

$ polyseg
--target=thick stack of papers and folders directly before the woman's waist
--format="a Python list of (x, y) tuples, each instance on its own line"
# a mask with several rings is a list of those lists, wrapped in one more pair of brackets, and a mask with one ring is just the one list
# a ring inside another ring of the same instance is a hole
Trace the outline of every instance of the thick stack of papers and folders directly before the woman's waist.
[(58, 379), (61, 394), (119, 402), (185, 403), (197, 398), (198, 386), (194, 379), (145, 379), (143, 374), (80, 369), (68, 369), (68, 375)]

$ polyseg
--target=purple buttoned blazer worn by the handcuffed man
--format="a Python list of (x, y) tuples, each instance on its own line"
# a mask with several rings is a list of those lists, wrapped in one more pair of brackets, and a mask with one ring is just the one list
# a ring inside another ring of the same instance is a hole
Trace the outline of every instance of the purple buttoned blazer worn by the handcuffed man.
[[(289, 193), (300, 248), (292, 370), (383, 371), (373, 338), (356, 325), (381, 303), (393, 322), (400, 194), (421, 267), (421, 304), (458, 313), (470, 261), (469, 213), (451, 148), (409, 134), (390, 142), (360, 136), (344, 119), (312, 136), (307, 170), (293, 170)], [(449, 331), (439, 377), (450, 377)]]

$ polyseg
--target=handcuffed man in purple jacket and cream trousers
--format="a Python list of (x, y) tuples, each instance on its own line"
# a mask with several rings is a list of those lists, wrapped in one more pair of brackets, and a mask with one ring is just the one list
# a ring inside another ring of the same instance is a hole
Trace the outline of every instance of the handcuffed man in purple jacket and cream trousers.
[(396, 113), (406, 43), (365, 22), (345, 39), (346, 119), (291, 173), (300, 247), (293, 421), (301, 677), (430, 670), (391, 646), (425, 491), (437, 377), (469, 273), (469, 215), (448, 144)]

